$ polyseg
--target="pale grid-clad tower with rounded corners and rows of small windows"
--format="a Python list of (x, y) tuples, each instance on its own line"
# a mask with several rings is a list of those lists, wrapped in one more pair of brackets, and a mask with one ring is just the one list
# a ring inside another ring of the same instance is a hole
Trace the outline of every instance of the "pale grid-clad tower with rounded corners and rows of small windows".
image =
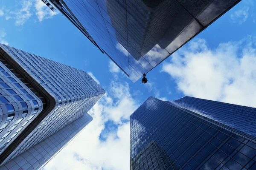
[(44, 166), (104, 94), (84, 71), (0, 44), (0, 170)]

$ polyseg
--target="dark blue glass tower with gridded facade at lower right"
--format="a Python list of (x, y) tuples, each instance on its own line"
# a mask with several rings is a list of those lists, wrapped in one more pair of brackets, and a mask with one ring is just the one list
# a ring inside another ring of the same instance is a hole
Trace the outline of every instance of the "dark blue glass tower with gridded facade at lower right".
[(131, 170), (256, 170), (256, 108), (149, 97), (130, 127)]

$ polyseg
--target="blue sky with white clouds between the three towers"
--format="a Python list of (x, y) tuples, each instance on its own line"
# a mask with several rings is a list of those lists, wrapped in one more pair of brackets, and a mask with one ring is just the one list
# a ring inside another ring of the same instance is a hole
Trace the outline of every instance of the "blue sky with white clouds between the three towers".
[(242, 0), (147, 74), (131, 82), (62, 14), (41, 0), (0, 1), (0, 43), (89, 72), (107, 94), (91, 122), (44, 167), (129, 169), (129, 116), (149, 96), (184, 95), (256, 106), (256, 3)]

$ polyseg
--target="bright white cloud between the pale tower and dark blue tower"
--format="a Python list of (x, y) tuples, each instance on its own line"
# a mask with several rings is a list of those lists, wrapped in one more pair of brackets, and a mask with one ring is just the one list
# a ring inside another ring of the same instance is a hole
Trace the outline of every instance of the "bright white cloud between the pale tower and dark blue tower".
[[(44, 167), (44, 170), (129, 170), (129, 116), (139, 105), (131, 97), (127, 83), (111, 82), (109, 94), (89, 111), (93, 121)], [(99, 139), (107, 121), (118, 126), (116, 132)], [(125, 120), (122, 121), (122, 120)]]

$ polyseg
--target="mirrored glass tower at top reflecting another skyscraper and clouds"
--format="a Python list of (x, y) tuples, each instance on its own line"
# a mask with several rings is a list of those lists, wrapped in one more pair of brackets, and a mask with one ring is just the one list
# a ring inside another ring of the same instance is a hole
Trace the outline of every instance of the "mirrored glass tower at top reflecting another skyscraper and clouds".
[(136, 82), (241, 0), (42, 1)]

